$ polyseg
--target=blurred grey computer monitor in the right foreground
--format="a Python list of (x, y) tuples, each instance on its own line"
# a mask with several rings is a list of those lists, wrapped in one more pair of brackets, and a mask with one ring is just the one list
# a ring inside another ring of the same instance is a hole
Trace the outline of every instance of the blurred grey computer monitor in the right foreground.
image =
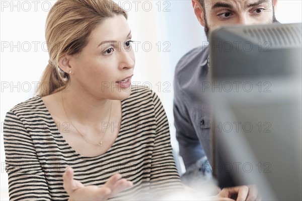
[(220, 187), (302, 199), (301, 24), (210, 32), (212, 155)]

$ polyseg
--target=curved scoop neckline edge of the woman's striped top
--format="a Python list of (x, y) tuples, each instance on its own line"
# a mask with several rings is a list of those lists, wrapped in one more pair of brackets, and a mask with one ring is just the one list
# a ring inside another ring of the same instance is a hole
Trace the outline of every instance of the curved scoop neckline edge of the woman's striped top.
[(106, 152), (104, 152), (103, 154), (100, 154), (100, 155), (98, 155), (98, 156), (92, 156), (92, 157), (90, 157), (90, 156), (83, 156), (82, 154), (79, 154), (77, 151), (75, 151), (75, 150), (69, 145), (69, 143), (67, 143), (67, 141), (65, 140), (65, 138), (62, 136), (60, 130), (58, 129), (58, 127), (57, 127), (57, 125), (56, 125), (56, 123), (55, 123), (53, 117), (51, 116), (51, 114), (50, 114), (48, 108), (46, 107), (46, 105), (45, 105), (45, 103), (44, 103), (42, 97), (41, 97), (40, 95), (37, 95), (37, 96), (38, 96), (38, 98), (42, 101), (43, 107), (44, 107), (44, 109), (46, 110), (47, 115), (50, 116), (50, 121), (51, 121), (50, 123), (55, 125), (55, 128), (56, 128), (55, 132), (58, 133), (59, 138), (63, 141), (64, 145), (67, 145), (67, 146), (68, 146), (68, 149), (71, 150), (71, 151), (73, 152), (73, 154), (74, 154), (74, 155), (77, 155), (78, 157), (81, 157), (81, 158), (88, 158), (88, 159), (103, 157), (103, 156), (105, 156), (105, 155), (107, 155), (108, 153), (111, 152), (112, 148), (115, 146), (115, 144), (117, 143), (117, 141), (118, 141), (119, 138), (121, 137), (121, 132), (122, 132), (122, 130), (123, 130), (123, 128), (124, 128), (124, 126), (123, 126), (123, 124), (122, 124), (122, 122), (124, 121), (124, 105), (123, 105), (124, 100), (121, 100), (121, 110), (122, 110), (121, 127), (120, 127), (120, 130), (119, 130), (119, 132), (118, 132), (118, 135), (117, 135), (117, 137), (116, 137), (114, 143), (113, 143), (112, 146), (111, 146)]

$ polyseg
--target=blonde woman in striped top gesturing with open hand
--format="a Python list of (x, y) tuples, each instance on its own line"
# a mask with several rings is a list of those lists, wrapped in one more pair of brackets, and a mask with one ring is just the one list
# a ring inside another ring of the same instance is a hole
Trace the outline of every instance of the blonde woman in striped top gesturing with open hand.
[(129, 199), (181, 188), (164, 108), (153, 91), (131, 86), (125, 11), (112, 1), (58, 0), (46, 41), (37, 96), (4, 124), (10, 199)]

